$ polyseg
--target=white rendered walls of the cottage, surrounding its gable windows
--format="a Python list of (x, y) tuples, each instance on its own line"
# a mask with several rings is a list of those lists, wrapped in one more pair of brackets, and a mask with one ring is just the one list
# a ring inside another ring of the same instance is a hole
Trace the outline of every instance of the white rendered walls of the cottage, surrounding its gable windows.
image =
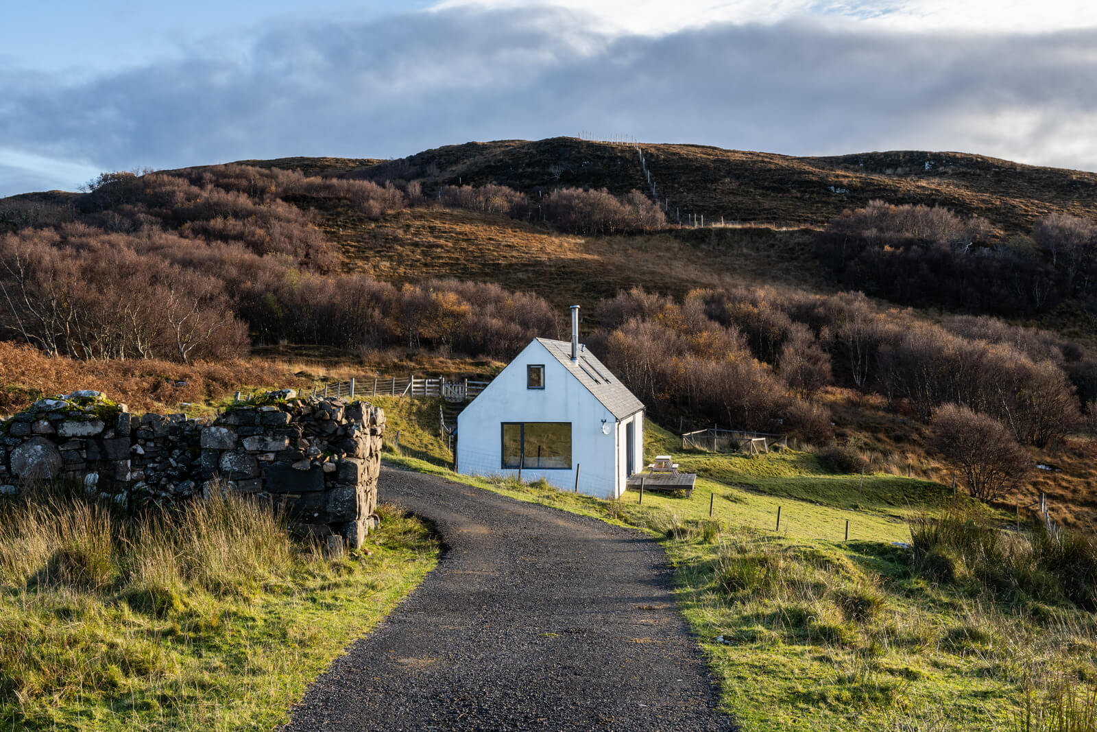
[[(543, 364), (545, 387), (525, 387), (525, 367)], [(609, 435), (602, 433), (602, 420)], [(522, 471), (523, 481), (543, 477), (548, 483), (572, 491), (579, 466), (579, 493), (598, 498), (615, 498), (624, 489), (618, 470), (617, 418), (595, 398), (544, 346), (532, 341), (496, 376), (465, 409), (457, 415), (457, 470), (466, 475), (517, 475), (502, 468), (505, 421), (572, 423), (572, 469)], [(623, 447), (622, 447), (623, 449)], [(637, 462), (637, 465), (640, 463)], [(638, 468), (637, 468), (638, 470)]]

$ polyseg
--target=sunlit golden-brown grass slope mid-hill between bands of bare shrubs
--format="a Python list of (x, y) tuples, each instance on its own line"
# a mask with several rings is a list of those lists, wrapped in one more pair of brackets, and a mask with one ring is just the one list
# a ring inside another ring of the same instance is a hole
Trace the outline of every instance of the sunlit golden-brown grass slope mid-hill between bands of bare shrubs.
[(810, 230), (744, 226), (579, 237), (471, 211), (410, 209), (370, 221), (332, 202), (320, 213), (346, 269), (396, 283), (487, 280), (558, 306), (590, 306), (634, 286), (676, 296), (736, 284), (834, 289), (815, 262)]

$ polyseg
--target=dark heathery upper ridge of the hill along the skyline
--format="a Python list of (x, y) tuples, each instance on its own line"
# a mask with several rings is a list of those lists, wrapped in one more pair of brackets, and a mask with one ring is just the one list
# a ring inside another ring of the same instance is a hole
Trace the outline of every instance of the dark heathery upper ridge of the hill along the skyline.
[[(1097, 173), (1027, 166), (965, 153), (900, 150), (793, 157), (702, 145), (641, 145), (661, 200), (706, 222), (822, 227), (873, 199), (941, 205), (1027, 232), (1052, 212), (1094, 215)], [(375, 180), (497, 183), (535, 193), (578, 185), (615, 194), (648, 190), (636, 149), (574, 137), (465, 143), (385, 161), (332, 158), (250, 160), (249, 165)], [(315, 173), (314, 173), (315, 174)], [(834, 189), (834, 190), (832, 190)], [(845, 192), (836, 192), (845, 191)], [(674, 211), (671, 210), (672, 214)]]

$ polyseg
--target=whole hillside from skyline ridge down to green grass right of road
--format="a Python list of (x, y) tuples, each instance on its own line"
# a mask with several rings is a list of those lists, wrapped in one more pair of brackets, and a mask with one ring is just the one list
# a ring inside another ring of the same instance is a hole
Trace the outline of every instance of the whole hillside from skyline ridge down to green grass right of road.
[[(646, 453), (697, 473), (692, 495), (453, 475), (429, 399), (377, 398), (388, 459), (659, 537), (751, 729), (1047, 729), (1022, 717), (1073, 714), (1071, 695), (1093, 719), (1097, 176), (960, 154), (645, 156), (723, 225), (633, 193), (636, 149), (569, 138), (0, 200), (0, 410), (77, 386), (197, 414), (264, 385), (488, 378), (531, 338), (566, 338), (577, 302), (584, 344), (647, 408)], [(1033, 228), (1049, 213), (1082, 216), (1039, 224), (1081, 235), (1061, 251)], [(682, 448), (714, 425), (789, 449)], [(963, 496), (980, 486), (961, 442), (1007, 461), (988, 508)], [(941, 698), (959, 724), (939, 724)]]

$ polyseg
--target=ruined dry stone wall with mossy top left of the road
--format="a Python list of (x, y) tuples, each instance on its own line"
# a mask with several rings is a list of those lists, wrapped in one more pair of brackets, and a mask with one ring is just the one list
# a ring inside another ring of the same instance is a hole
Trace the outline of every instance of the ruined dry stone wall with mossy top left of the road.
[(98, 392), (73, 392), (0, 424), (0, 495), (65, 475), (134, 509), (228, 489), (358, 548), (376, 522), (384, 430), (378, 407), (292, 391), (234, 405), (213, 423), (137, 417)]

